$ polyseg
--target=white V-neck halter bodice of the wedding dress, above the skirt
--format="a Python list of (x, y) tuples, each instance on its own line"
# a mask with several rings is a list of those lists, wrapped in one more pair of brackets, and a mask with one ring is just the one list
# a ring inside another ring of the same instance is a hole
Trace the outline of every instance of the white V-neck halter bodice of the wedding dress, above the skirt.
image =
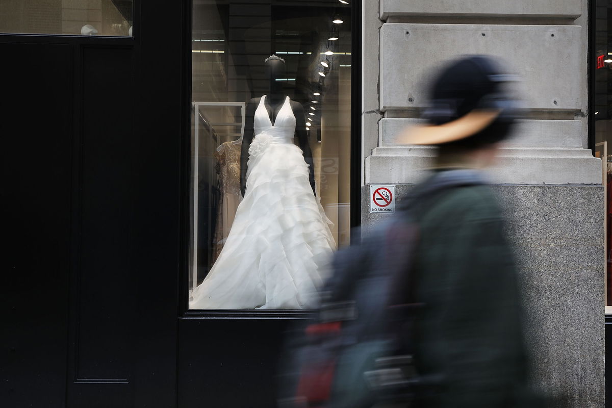
[(293, 135), (296, 131), (296, 117), (291, 109), (289, 97), (285, 97), (283, 106), (278, 111), (274, 125), (266, 109), (266, 95), (259, 100), (255, 109), (254, 119), (255, 135), (266, 133), (272, 136), (274, 143), (293, 143)]

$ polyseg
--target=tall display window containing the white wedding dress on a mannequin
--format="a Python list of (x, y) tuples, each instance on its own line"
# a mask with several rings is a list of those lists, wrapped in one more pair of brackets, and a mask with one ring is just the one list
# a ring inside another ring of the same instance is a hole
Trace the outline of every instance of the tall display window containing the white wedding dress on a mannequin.
[(193, 2), (190, 309), (308, 309), (348, 244), (351, 6)]

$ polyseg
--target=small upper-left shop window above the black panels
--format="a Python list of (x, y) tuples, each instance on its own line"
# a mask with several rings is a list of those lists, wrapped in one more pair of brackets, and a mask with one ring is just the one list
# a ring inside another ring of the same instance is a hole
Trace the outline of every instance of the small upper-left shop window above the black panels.
[(133, 0), (0, 0), (0, 32), (132, 35)]

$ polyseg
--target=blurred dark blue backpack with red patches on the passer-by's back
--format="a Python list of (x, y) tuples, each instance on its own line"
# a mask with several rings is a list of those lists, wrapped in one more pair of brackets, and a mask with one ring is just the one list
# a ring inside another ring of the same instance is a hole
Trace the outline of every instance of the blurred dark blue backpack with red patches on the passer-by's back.
[(412, 358), (424, 306), (412, 292), (417, 215), (421, 204), (443, 190), (476, 184), (482, 184), (476, 171), (439, 172), (360, 243), (335, 253), (318, 317), (297, 329), (290, 346), (297, 378), (281, 407), (408, 404), (420, 389), (435, 387), (436, 379), (420, 377)]

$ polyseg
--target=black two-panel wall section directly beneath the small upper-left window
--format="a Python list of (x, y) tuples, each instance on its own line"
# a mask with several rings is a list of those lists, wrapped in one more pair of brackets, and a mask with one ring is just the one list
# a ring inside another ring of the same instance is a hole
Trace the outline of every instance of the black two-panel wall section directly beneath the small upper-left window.
[(132, 39), (0, 38), (2, 406), (131, 399), (134, 48)]

